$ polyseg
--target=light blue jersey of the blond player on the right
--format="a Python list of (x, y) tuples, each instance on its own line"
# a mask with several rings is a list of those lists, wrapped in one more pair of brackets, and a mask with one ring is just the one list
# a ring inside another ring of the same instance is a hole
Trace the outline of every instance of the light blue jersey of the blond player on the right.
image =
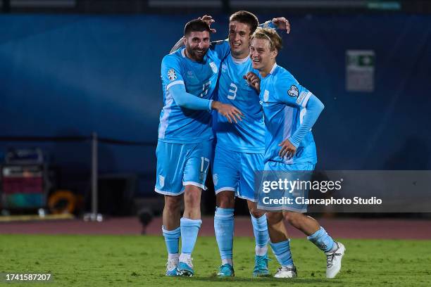
[(311, 130), (306, 132), (294, 157), (280, 158), (280, 146), (299, 128), (306, 113), (306, 105), (313, 94), (302, 87), (285, 68), (275, 64), (270, 73), (261, 79), (261, 105), (265, 115), (266, 153), (265, 161), (311, 162), (316, 164), (316, 144)]

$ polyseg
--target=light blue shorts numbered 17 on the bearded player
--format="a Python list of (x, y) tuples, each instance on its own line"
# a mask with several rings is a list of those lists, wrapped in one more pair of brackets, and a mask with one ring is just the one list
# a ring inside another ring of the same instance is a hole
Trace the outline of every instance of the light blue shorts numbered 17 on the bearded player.
[(205, 179), (212, 157), (213, 141), (198, 144), (171, 144), (158, 141), (156, 186), (157, 193), (179, 196), (184, 186), (206, 189)]

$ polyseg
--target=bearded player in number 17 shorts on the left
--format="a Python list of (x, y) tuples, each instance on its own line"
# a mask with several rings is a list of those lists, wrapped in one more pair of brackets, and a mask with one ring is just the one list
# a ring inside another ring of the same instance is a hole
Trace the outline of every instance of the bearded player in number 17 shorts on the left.
[[(201, 191), (212, 153), (211, 110), (229, 122), (241, 120), (235, 107), (211, 98), (220, 58), (227, 51), (208, 49), (210, 27), (202, 20), (185, 25), (185, 48), (161, 63), (163, 109), (158, 127), (155, 191), (165, 197), (163, 236), (168, 249), (167, 276), (192, 276), (192, 251), (201, 227)], [(184, 214), (180, 208), (184, 193)], [(179, 239), (182, 238), (181, 255)]]

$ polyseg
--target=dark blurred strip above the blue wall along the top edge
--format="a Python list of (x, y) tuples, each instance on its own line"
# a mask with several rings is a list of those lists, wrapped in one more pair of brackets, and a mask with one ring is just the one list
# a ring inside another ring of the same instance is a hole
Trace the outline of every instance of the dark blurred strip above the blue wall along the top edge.
[(261, 13), (431, 13), (427, 0), (1, 0), (0, 6), (6, 13), (230, 13), (240, 9)]

